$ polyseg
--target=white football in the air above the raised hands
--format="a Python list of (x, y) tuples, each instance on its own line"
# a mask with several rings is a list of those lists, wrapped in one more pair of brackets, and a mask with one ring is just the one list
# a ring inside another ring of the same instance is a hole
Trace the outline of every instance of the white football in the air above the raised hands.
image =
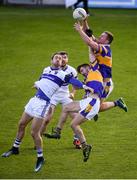
[(81, 21), (81, 20), (84, 20), (86, 17), (87, 17), (87, 13), (86, 13), (85, 9), (83, 9), (83, 8), (76, 8), (73, 11), (73, 18), (76, 20)]

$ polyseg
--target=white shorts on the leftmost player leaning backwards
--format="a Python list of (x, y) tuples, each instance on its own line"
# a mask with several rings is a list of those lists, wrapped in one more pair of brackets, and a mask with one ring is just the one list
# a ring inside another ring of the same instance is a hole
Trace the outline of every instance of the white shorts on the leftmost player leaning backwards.
[(50, 107), (50, 103), (36, 96), (31, 98), (25, 106), (25, 112), (32, 117), (44, 118)]

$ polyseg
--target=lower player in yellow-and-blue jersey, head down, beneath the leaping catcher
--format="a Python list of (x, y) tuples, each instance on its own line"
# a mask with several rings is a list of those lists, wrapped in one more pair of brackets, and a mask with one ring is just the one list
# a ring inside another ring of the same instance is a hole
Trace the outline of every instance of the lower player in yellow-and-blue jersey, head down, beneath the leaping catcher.
[(83, 150), (83, 160), (86, 162), (89, 158), (92, 146), (87, 144), (80, 125), (87, 120), (93, 119), (99, 112), (100, 99), (103, 92), (103, 77), (97, 69), (92, 69), (89, 65), (80, 65), (77, 70), (82, 74), (86, 74), (85, 85), (92, 88), (93, 91), (86, 91), (86, 98), (69, 103), (64, 106), (63, 111), (66, 113), (77, 112), (75, 117), (72, 119), (71, 127), (74, 133), (79, 137)]

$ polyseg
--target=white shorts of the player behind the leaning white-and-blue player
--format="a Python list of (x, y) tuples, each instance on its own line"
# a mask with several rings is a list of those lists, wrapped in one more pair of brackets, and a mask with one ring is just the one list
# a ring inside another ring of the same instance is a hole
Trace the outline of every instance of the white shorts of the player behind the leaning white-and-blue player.
[(66, 105), (71, 103), (73, 100), (69, 97), (69, 94), (54, 94), (50, 100), (50, 104), (57, 106), (58, 104)]

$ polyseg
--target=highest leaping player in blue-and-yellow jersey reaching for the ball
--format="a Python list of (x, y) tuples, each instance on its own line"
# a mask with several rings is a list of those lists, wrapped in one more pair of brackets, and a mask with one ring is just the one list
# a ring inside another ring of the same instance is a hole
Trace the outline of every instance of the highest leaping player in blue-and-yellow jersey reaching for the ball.
[[(103, 102), (113, 90), (112, 52), (110, 48), (110, 44), (113, 41), (113, 34), (105, 31), (98, 39), (96, 39), (89, 29), (87, 20), (84, 20), (83, 26), (81, 26), (80, 23), (75, 23), (74, 28), (79, 32), (81, 38), (89, 47), (90, 65), (95, 67), (96, 64), (99, 64), (99, 71), (103, 76), (104, 85), (104, 91), (101, 98), (101, 102)], [(115, 101), (115, 103), (102, 104), (100, 111), (107, 110), (114, 106), (119, 106), (126, 112), (128, 110), (126, 104), (122, 98), (120, 98), (118, 101)]]

